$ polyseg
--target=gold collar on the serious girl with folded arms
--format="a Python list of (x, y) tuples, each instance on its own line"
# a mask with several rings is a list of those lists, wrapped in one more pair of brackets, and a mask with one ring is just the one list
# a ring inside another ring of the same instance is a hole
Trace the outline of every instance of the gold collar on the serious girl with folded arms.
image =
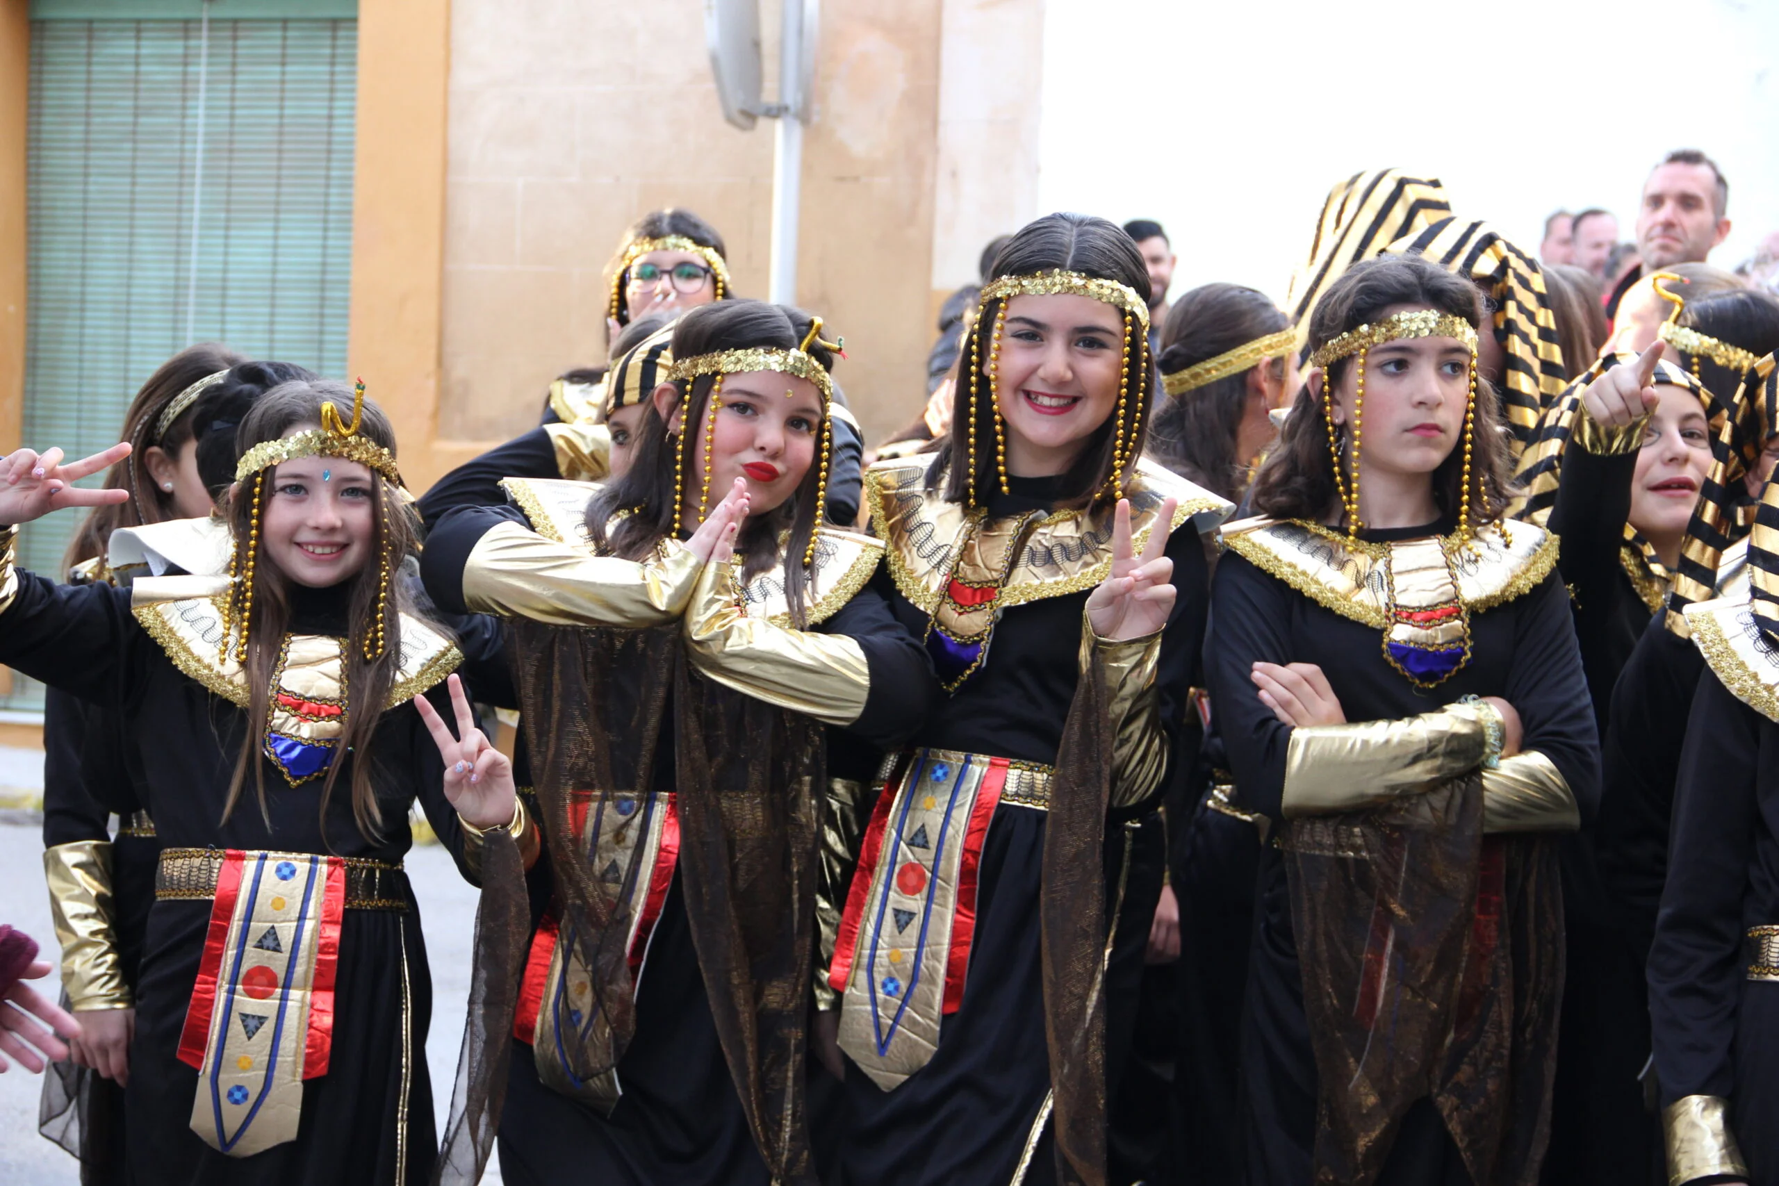
[[(1450, 548), (1459, 603), (1482, 612), (1532, 592), (1557, 564), (1557, 537), (1530, 523), (1489, 523), (1475, 551)], [(1388, 629), (1388, 544), (1354, 544), (1302, 519), (1247, 519), (1224, 530), (1224, 546), (1316, 605)]]

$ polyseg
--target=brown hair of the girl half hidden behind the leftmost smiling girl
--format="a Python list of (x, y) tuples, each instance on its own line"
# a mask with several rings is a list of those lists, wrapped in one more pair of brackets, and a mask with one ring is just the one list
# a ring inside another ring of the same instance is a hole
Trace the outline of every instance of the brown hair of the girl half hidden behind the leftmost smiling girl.
[(149, 445), (158, 445), (167, 453), (178, 453), (192, 439), (192, 411), (187, 409), (167, 427), (164, 437), (155, 436), (155, 425), (167, 404), (176, 400), (189, 386), (238, 365), (242, 357), (224, 345), (205, 341), (185, 347), (162, 363), (148, 382), (130, 400), (130, 409), (123, 414), (121, 441), (128, 441), (133, 452), (105, 471), (105, 489), (130, 491), (130, 500), (94, 507), (75, 537), (68, 542), (62, 557), (62, 569), (71, 569), (84, 560), (103, 557), (110, 533), (121, 526), (141, 526), (142, 523), (160, 523), (173, 517), (173, 496), (164, 494), (155, 485), (142, 464), (142, 453)]

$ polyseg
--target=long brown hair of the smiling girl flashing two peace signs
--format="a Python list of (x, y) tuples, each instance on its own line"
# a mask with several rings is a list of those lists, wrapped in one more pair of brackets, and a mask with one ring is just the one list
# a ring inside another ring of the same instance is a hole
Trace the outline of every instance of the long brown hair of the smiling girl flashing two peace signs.
[[(254, 445), (276, 441), (288, 436), (292, 429), (320, 427), (322, 404), (343, 409), (352, 407), (352, 388), (333, 379), (313, 382), (285, 382), (267, 391), (242, 420), (235, 436), (235, 448), (246, 453)], [(365, 400), (365, 416), (358, 434), (395, 452), (395, 430), (388, 416), (370, 400)], [(262, 469), (260, 478), (270, 485), (276, 468)], [(327, 779), (322, 782), (320, 820), (322, 834), (327, 827), (327, 800), (333, 797), (334, 781), (347, 754), (352, 754), (352, 818), (358, 830), (366, 839), (377, 839), (382, 827), (382, 813), (377, 807), (377, 793), (372, 786), (372, 749), (370, 740), (382, 718), (382, 706), (395, 683), (395, 670), (402, 654), (400, 613), (415, 613), (409, 605), (397, 569), (404, 557), (418, 549), (418, 533), (413, 514), (407, 510), (382, 475), (372, 469), (370, 475), (375, 500), (377, 539), (365, 565), (347, 578), (347, 637), (342, 640), (345, 663), (345, 686), (350, 688), (350, 709), (342, 722), (340, 740), (333, 747), (333, 759), (327, 766)], [(254, 478), (240, 482), (229, 496), (226, 516), (229, 530), (237, 541), (247, 539), (253, 530), (253, 487)], [(263, 509), (262, 509), (263, 512)], [(382, 654), (375, 660), (365, 658), (363, 640), (375, 629), (377, 592), (381, 585), (379, 557), (390, 557), (390, 592), (384, 610)], [(253, 587), (253, 624), (247, 638), (247, 736), (242, 743), (240, 757), (235, 763), (235, 777), (229, 782), (228, 800), (222, 818), (235, 811), (242, 788), (247, 784), (249, 768), (253, 784), (260, 797), (260, 814), (270, 818), (265, 807), (265, 759), (260, 756), (260, 738), (270, 724), (272, 715), (272, 672), (278, 667), (285, 631), (290, 626), (292, 592), (290, 580), (272, 562), (262, 548), (254, 571)]]

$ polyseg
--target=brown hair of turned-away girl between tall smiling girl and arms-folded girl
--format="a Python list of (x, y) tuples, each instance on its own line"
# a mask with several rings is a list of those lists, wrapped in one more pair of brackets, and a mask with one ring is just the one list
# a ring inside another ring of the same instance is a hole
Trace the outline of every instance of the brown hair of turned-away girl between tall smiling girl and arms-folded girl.
[[(1201, 284), (1167, 311), (1160, 370), (1172, 375), (1288, 325), (1279, 306), (1261, 292), (1242, 284)], [(1267, 366), (1283, 372), (1284, 359), (1267, 359)], [(1165, 397), (1156, 404), (1149, 427), (1149, 448), (1156, 461), (1231, 501), (1242, 498), (1252, 461), (1235, 455), (1236, 434), (1247, 414), (1251, 370)]]

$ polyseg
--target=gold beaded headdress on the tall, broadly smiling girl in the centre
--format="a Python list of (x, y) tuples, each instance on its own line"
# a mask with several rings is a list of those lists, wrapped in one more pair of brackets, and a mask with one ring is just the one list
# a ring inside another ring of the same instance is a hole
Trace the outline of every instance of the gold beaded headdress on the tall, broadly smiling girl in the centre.
[[(1110, 304), (1123, 311), (1124, 315), (1124, 352), (1119, 365), (1119, 384), (1117, 384), (1117, 411), (1114, 413), (1114, 443), (1112, 443), (1112, 475), (1101, 487), (1101, 494), (1110, 498), (1124, 496), (1124, 473), (1137, 468), (1137, 441), (1140, 439), (1142, 429), (1142, 409), (1149, 402), (1149, 304), (1137, 295), (1137, 290), (1130, 284), (1123, 284), (1115, 279), (1101, 279), (1098, 276), (1087, 276), (1085, 272), (1067, 272), (1062, 268), (1053, 268), (1046, 272), (1032, 272), (1028, 276), (1002, 276), (982, 286), (982, 297), (977, 306), (977, 320), (970, 331), (970, 469), (968, 469), (968, 496), (970, 505), (980, 505), (977, 500), (977, 407), (978, 407), (978, 375), (986, 375), (989, 381), (989, 409), (994, 416), (994, 468), (1000, 473), (1000, 491), (1007, 494), (1007, 421), (1000, 411), (1000, 343), (1002, 333), (1007, 327), (1007, 302), (1014, 297), (1057, 297), (1073, 295), (1087, 297), (1091, 301), (1099, 301)], [(989, 340), (989, 359), (987, 368), (982, 368), (982, 334), (991, 324), (987, 318), (989, 306), (994, 306), (994, 320)], [(1137, 391), (1131, 398), (1131, 357), (1137, 359)]]

